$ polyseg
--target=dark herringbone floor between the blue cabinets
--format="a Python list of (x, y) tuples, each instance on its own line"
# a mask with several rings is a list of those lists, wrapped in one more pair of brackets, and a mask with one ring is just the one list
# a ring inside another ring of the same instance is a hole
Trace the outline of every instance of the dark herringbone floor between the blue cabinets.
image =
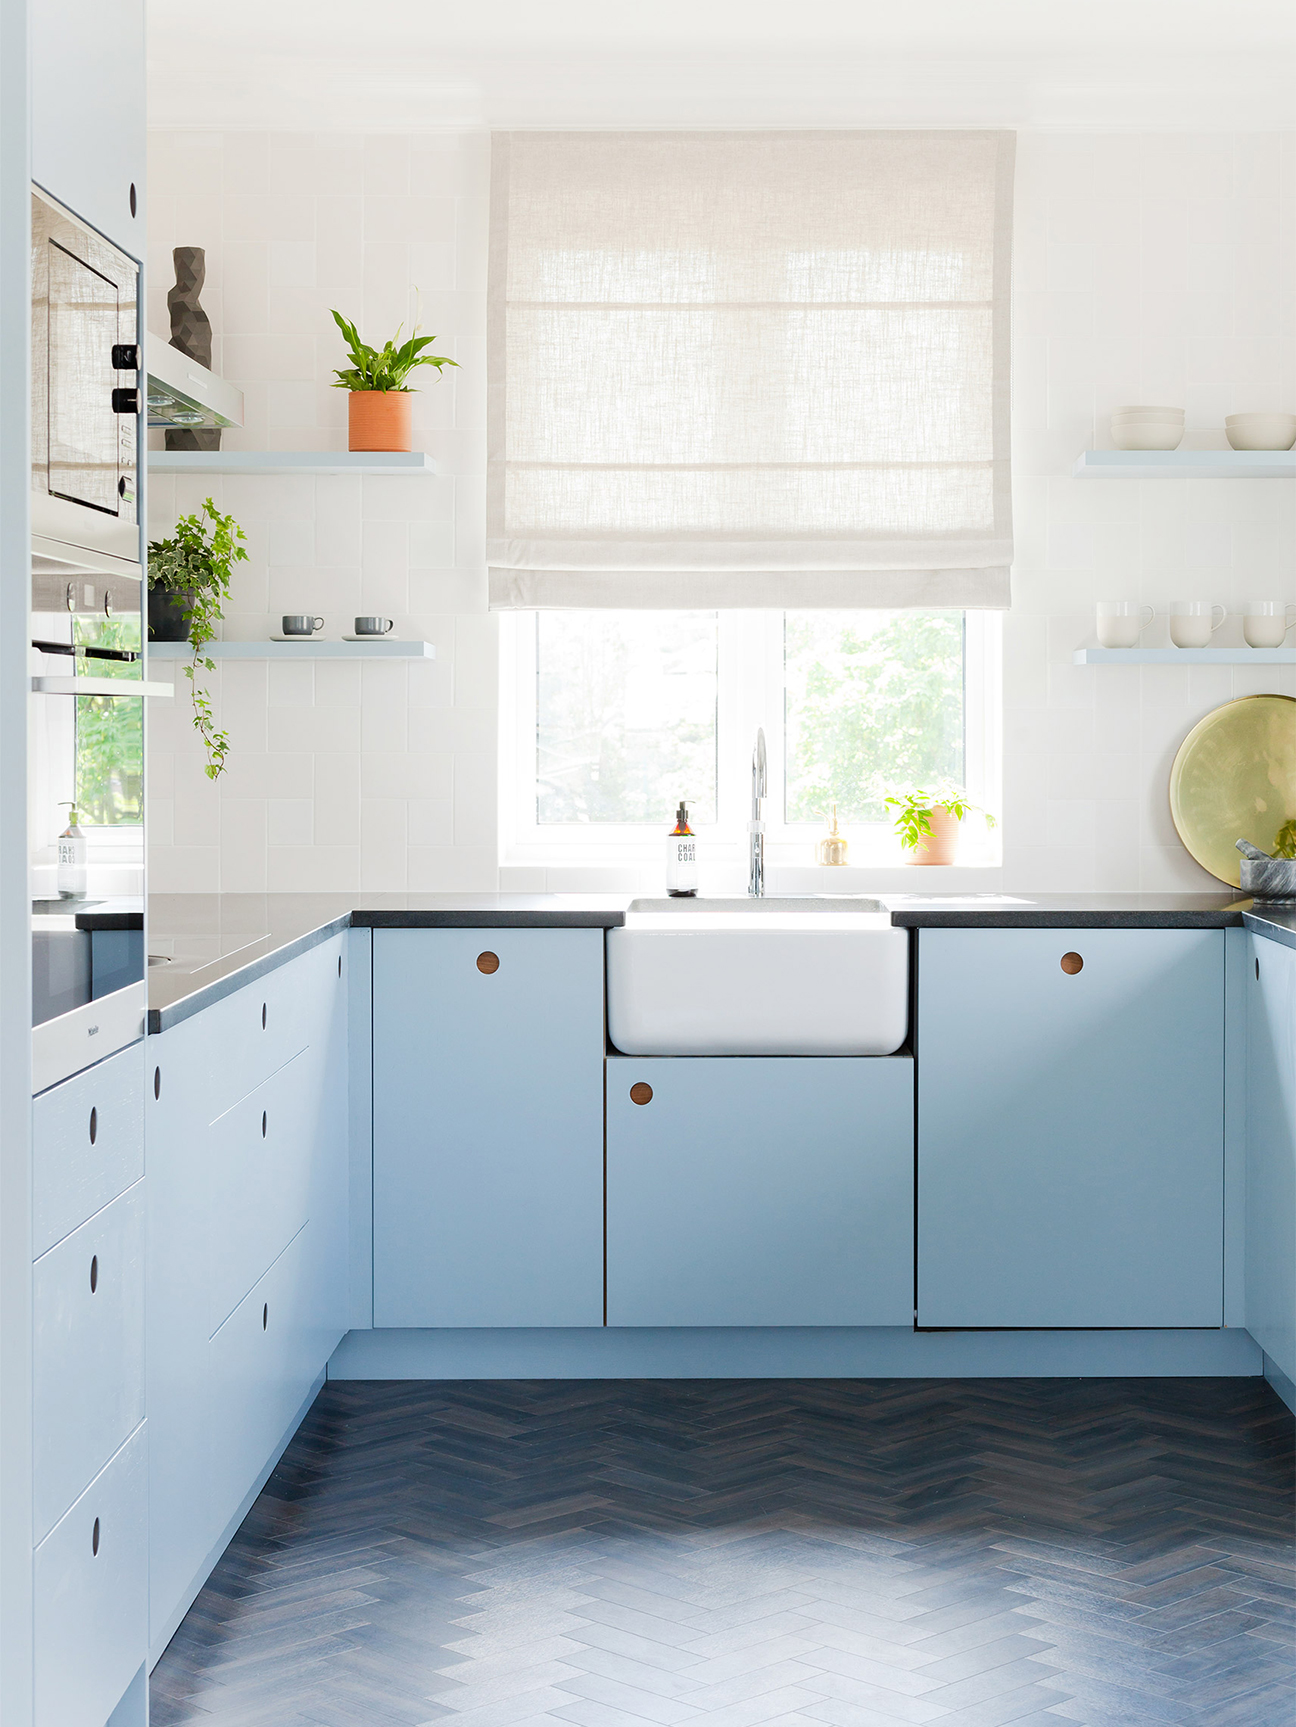
[(1291, 1727), (1258, 1380), (325, 1387), (154, 1727)]

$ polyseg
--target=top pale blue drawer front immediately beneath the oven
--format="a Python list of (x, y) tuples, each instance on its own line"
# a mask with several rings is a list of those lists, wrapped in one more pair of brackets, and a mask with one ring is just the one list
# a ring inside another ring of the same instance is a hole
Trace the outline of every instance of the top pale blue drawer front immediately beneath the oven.
[(143, 1174), (143, 1067), (135, 1043), (33, 1100), (33, 1259)]

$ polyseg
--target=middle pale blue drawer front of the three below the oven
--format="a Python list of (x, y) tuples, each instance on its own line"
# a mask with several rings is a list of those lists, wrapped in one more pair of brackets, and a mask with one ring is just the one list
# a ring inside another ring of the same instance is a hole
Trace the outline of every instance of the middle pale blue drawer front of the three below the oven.
[(143, 1420), (143, 1183), (33, 1266), (36, 1540)]

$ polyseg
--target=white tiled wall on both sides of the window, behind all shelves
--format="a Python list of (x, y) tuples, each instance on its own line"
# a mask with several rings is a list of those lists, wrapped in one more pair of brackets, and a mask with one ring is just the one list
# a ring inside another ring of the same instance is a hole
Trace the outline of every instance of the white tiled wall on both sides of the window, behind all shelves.
[[(484, 598), (482, 135), (157, 133), (150, 328), (166, 333), (173, 244), (209, 249), (218, 364), (247, 392), (228, 446), (346, 444), (328, 307), (370, 337), (410, 318), (463, 371), (416, 397), (416, 442), (444, 478), (240, 478), (213, 485), (252, 561), (226, 636), (285, 610), (337, 632), (385, 611), (437, 646), (430, 667), (226, 665), (230, 770), (218, 788), (181, 703), (152, 710), (156, 889), (489, 888), (496, 869), (496, 632)], [(1282, 668), (1075, 667), (1099, 598), (1296, 599), (1296, 487), (1077, 482), (1121, 402), (1223, 414), (1296, 409), (1296, 142), (1277, 135), (1021, 135), (1016, 206), (1014, 606), (1004, 630), (1004, 867), (1009, 891), (1210, 888), (1170, 824), (1170, 762), (1232, 696), (1296, 694)], [(199, 482), (152, 485), (154, 532)], [(1241, 641), (1236, 617), (1222, 641)], [(1149, 642), (1165, 641), (1158, 617)], [(657, 881), (600, 872), (591, 886)], [(961, 872), (962, 874), (962, 872)], [(914, 884), (912, 872), (869, 877)], [(505, 872), (505, 886), (574, 888)], [(923, 888), (935, 888), (930, 877)]]

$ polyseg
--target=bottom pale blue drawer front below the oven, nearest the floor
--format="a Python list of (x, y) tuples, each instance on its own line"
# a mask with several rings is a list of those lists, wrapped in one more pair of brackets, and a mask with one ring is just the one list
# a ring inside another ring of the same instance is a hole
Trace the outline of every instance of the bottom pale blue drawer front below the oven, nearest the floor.
[(36, 1727), (98, 1727), (149, 1651), (147, 1427), (36, 1547)]

